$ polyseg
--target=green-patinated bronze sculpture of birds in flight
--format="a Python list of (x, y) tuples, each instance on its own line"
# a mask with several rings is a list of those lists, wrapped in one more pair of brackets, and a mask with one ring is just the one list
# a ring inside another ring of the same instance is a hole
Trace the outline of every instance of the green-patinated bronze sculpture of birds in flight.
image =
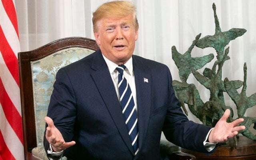
[[(236, 104), (238, 118), (244, 118), (244, 122), (242, 122), (241, 125), (246, 126), (246, 129), (240, 131), (240, 133), (247, 138), (256, 140), (256, 135), (252, 134), (252, 132), (248, 129), (252, 124), (254, 124), (254, 129), (256, 129), (256, 118), (244, 116), (247, 108), (256, 105), (256, 93), (252, 94), (250, 97), (246, 96), (246, 63), (244, 63), (244, 81), (228, 80), (228, 78), (225, 78), (224, 81), (222, 80), (223, 64), (226, 60), (230, 59), (228, 56), (229, 47), (226, 48), (226, 50), (224, 50), (224, 48), (231, 40), (242, 36), (246, 30), (242, 28), (232, 28), (226, 32), (222, 32), (214, 3), (212, 5), (212, 9), (214, 10), (215, 20), (214, 35), (205, 36), (200, 39), (201, 34), (198, 34), (196, 39), (192, 42), (192, 45), (188, 48), (188, 51), (186, 51), (184, 54), (180, 54), (176, 50), (176, 47), (172, 46), (172, 59), (178, 67), (181, 80), (181, 82), (177, 80), (172, 82), (175, 94), (180, 100), (180, 106), (187, 115), (188, 112), (185, 108), (185, 104), (188, 105), (188, 108), (192, 114), (202, 121), (203, 124), (206, 124), (207, 126), (214, 126), (226, 109), (231, 110), (228, 121), (232, 122), (234, 120), (232, 108), (230, 108), (230, 106), (226, 106), (224, 102), (223, 92), (227, 92), (230, 98)], [(217, 53), (217, 60), (214, 62), (212, 69), (205, 68), (203, 74), (200, 74), (200, 72), (197, 70), (211, 62), (214, 58), (214, 54), (192, 58), (191, 51), (194, 46), (202, 49), (212, 47)], [(218, 70), (216, 71), (217, 66)], [(196, 80), (200, 82), (200, 84), (210, 90), (209, 101), (203, 102), (200, 98), (198, 90), (196, 89), (196, 86), (186, 82), (191, 73), (194, 75)], [(240, 87), (242, 87), (242, 91), (239, 94), (237, 89)], [(236, 138), (234, 138), (234, 140), (236, 140)]]

